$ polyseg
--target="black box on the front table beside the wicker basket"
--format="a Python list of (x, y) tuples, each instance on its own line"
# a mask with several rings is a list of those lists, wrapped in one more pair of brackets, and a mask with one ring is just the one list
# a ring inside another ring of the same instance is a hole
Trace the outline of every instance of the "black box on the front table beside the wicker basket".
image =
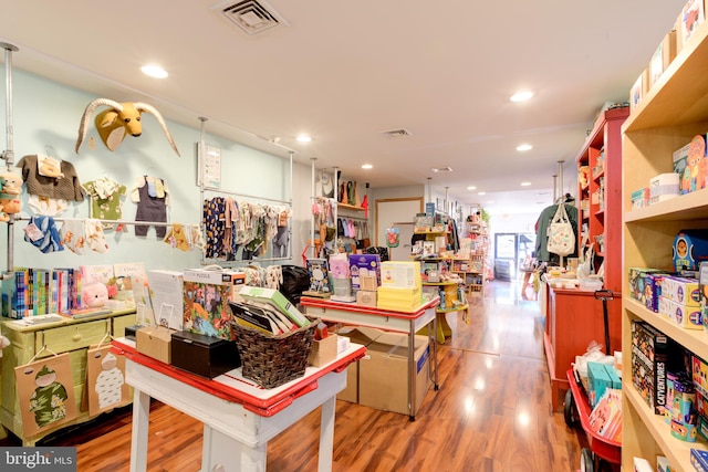
[(241, 367), (236, 343), (189, 332), (173, 333), (171, 365), (206, 378)]

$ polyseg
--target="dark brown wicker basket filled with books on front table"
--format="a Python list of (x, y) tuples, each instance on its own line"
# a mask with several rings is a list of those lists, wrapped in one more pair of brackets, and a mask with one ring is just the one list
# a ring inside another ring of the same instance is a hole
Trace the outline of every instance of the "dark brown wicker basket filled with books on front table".
[(273, 388), (305, 374), (319, 319), (296, 331), (268, 336), (231, 321), (241, 356), (241, 375), (263, 388)]

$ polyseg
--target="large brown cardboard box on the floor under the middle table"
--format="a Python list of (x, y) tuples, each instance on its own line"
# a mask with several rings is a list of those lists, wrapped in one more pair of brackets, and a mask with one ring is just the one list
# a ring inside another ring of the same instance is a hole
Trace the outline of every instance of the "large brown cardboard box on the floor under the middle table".
[[(368, 359), (360, 360), (358, 402), (366, 407), (409, 415), (408, 336), (384, 333), (366, 347)], [(415, 337), (416, 415), (430, 387), (430, 345), (427, 336)]]

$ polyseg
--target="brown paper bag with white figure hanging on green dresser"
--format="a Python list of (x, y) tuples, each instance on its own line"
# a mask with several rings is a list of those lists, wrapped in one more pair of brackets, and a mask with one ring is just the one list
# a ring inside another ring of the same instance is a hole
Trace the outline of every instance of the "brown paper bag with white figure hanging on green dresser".
[(87, 350), (86, 380), (90, 416), (131, 402), (129, 387), (125, 382), (125, 357), (112, 353), (110, 344)]

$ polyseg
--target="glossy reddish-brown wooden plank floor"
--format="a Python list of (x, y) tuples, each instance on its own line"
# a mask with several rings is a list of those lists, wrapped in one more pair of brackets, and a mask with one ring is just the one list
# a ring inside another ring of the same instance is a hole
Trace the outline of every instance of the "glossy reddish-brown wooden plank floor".
[[(582, 429), (551, 410), (538, 303), (518, 282), (492, 282), (470, 302), (469, 325), (448, 314), (454, 335), (440, 346), (439, 390), (428, 391), (416, 421), (337, 400), (334, 471), (575, 471)], [(314, 471), (319, 409), (273, 439), (268, 469)], [(40, 445), (76, 445), (80, 472), (127, 471), (131, 410)], [(13, 444), (12, 439), (0, 445)], [(198, 471), (201, 424), (154, 402), (150, 471)]]

